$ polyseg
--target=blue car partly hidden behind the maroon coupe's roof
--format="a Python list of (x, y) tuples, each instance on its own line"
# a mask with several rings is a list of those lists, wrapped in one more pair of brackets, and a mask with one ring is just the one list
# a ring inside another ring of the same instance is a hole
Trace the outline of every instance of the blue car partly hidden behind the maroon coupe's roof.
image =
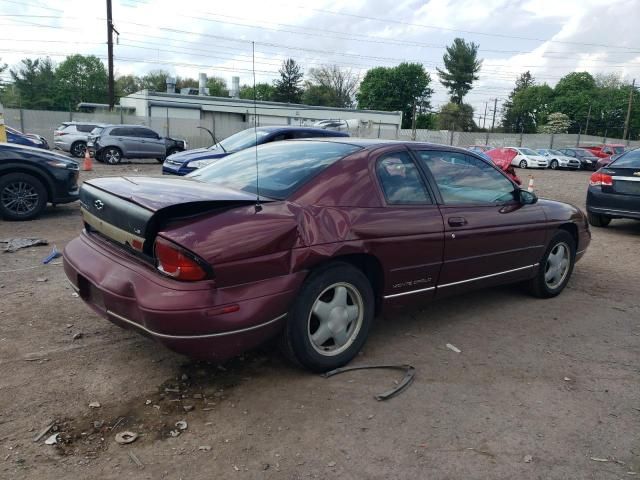
[(280, 140), (315, 137), (348, 137), (345, 132), (310, 127), (258, 127), (238, 132), (207, 148), (196, 148), (167, 157), (162, 165), (164, 175), (187, 175), (227, 155), (258, 145)]

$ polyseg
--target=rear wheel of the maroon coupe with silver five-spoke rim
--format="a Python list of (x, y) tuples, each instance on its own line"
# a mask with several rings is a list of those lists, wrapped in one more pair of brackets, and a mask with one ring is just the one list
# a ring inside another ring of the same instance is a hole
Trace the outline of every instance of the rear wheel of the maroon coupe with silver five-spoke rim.
[(373, 289), (360, 270), (342, 262), (321, 268), (305, 281), (289, 310), (282, 350), (314, 372), (341, 367), (364, 345), (374, 307)]

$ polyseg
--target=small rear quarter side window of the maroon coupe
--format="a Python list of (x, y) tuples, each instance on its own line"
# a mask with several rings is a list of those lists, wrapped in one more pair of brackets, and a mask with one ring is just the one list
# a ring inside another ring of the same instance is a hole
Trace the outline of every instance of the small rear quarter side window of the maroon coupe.
[(418, 167), (407, 152), (389, 153), (378, 159), (376, 173), (389, 205), (433, 203)]

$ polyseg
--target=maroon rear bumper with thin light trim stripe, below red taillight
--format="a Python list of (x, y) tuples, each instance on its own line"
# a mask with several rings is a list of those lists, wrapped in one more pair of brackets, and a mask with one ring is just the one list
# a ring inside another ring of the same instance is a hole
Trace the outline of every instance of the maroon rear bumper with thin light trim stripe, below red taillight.
[[(103, 318), (178, 353), (217, 361), (276, 335), (304, 279), (291, 274), (226, 288), (214, 281), (178, 282), (86, 233), (66, 246), (64, 269)], [(221, 313), (232, 305), (238, 310)]]

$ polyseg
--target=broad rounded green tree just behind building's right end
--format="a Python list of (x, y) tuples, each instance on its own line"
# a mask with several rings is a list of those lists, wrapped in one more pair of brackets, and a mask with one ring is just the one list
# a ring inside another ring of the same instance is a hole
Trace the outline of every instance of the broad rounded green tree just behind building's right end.
[(367, 71), (356, 94), (359, 108), (401, 111), (402, 128), (409, 128), (414, 105), (417, 111), (429, 110), (433, 90), (431, 77), (419, 63), (401, 63), (396, 67), (376, 67)]

